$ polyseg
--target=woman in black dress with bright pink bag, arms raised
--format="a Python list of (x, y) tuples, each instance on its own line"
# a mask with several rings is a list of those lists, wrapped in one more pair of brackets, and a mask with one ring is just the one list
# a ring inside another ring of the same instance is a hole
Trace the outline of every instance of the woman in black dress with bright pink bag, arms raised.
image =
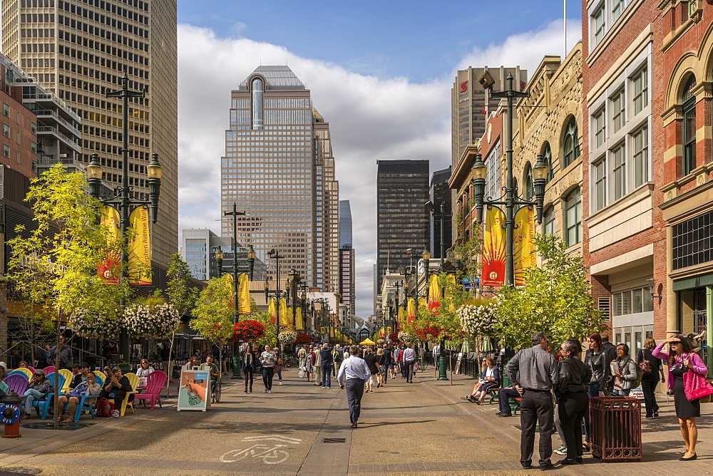
[[(666, 344), (670, 344), (669, 352), (663, 351)], [(696, 442), (698, 440), (696, 418), (701, 416), (701, 400), (700, 398), (688, 400), (684, 382), (688, 381), (689, 378), (695, 378), (696, 376), (693, 373), (698, 373), (699, 376), (705, 377), (708, 373), (708, 368), (698, 354), (693, 352), (688, 339), (681, 335), (667, 338), (654, 348), (652, 355), (666, 361), (669, 369), (668, 389), (669, 392), (673, 392), (676, 416), (681, 427), (683, 442), (686, 444), (686, 452), (682, 457), (679, 457), (679, 460), (695, 460), (698, 457), (696, 455)]]

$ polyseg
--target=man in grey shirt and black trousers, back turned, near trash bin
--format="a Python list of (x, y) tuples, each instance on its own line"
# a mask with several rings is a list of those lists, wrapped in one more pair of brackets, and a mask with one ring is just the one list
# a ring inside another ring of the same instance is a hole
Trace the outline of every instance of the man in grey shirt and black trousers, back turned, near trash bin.
[(535, 425), (540, 425), (540, 470), (554, 467), (552, 433), (555, 427), (552, 388), (558, 383), (555, 358), (546, 350), (547, 337), (542, 332), (532, 336), (532, 347), (519, 351), (508, 362), (506, 371), (520, 400), (520, 465), (529, 470), (535, 448)]

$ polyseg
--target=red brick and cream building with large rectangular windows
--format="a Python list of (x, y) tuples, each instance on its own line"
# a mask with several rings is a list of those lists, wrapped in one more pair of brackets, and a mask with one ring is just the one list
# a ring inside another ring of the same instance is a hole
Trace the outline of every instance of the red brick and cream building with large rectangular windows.
[(632, 355), (666, 331), (656, 1), (583, 1), (583, 257), (612, 340)]

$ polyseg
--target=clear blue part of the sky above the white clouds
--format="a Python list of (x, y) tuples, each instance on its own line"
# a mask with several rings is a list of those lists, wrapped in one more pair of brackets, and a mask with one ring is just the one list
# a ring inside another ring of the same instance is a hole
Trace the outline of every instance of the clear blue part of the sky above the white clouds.
[[(568, 1), (578, 18), (581, 2)], [(178, 21), (245, 37), (382, 78), (424, 82), (450, 72), (473, 47), (563, 16), (563, 1), (179, 0)]]

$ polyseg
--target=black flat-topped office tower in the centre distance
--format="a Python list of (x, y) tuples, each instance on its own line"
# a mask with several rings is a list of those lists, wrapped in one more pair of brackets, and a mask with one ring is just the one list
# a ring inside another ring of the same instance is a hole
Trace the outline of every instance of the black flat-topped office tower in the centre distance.
[[(376, 162), (376, 289), (386, 269), (414, 265), (429, 246), (429, 161)], [(411, 254), (406, 252), (411, 249)]]

